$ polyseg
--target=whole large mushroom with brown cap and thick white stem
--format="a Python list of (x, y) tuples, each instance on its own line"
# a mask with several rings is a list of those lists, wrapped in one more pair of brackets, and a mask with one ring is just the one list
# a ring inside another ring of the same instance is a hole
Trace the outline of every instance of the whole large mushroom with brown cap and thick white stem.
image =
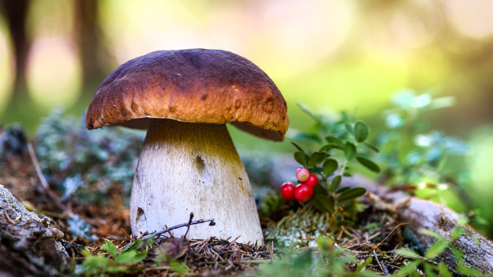
[(193, 212), (216, 224), (190, 226), (189, 238), (241, 235), (239, 242), (263, 243), (250, 182), (225, 123), (281, 141), (286, 109), (274, 82), (239, 55), (156, 51), (126, 62), (103, 81), (86, 125), (147, 128), (130, 200), (134, 236), (186, 222)]

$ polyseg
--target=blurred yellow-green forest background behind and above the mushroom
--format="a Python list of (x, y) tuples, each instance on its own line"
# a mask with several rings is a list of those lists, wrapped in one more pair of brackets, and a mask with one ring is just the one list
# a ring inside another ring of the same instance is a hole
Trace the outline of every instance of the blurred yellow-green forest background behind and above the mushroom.
[[(346, 110), (378, 130), (395, 92), (453, 96), (428, 124), (470, 142), (471, 205), (493, 220), (493, 1), (1, 0), (0, 125), (33, 135), (55, 107), (83, 114), (118, 65), (155, 50), (246, 57), (278, 85), (290, 128)], [(233, 131), (239, 148), (293, 151)], [(463, 205), (452, 204), (459, 211)]]

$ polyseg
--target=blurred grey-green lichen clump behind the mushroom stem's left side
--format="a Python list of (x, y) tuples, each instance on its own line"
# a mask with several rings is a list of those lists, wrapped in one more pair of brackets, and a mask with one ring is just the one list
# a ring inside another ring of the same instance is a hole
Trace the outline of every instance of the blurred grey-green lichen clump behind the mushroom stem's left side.
[(118, 186), (128, 201), (145, 133), (122, 127), (88, 131), (84, 117), (53, 111), (36, 132), (43, 174), (63, 195), (81, 203), (102, 203)]

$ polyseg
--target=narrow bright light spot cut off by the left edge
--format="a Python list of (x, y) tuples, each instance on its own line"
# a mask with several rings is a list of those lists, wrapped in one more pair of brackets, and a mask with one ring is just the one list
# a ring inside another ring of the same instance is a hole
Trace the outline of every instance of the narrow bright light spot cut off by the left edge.
[(6, 33), (6, 27), (0, 20), (0, 113), (10, 97), (14, 75), (13, 57), (8, 46)]

